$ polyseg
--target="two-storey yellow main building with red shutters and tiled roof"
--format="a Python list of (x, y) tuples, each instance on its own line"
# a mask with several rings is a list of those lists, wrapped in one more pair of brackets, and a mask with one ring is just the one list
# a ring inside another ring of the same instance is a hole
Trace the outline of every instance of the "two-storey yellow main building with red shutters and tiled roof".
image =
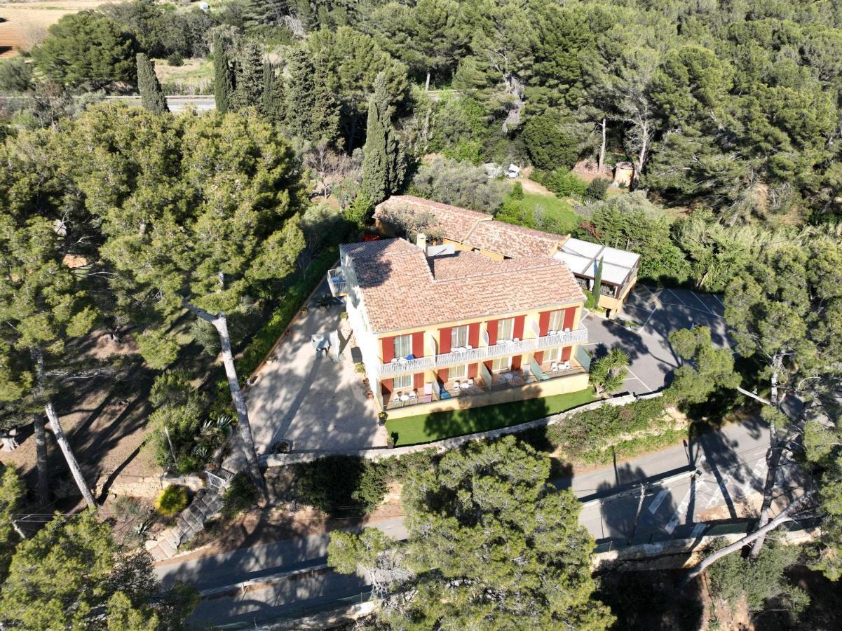
[(392, 418), (588, 388), (584, 295), (562, 260), (392, 238), (341, 246), (328, 281)]

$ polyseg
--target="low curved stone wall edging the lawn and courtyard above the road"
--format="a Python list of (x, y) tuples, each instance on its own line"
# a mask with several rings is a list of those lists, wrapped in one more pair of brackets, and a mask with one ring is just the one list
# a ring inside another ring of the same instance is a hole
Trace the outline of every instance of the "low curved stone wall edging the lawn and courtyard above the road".
[(663, 396), (663, 393), (644, 394), (637, 397), (634, 394), (626, 394), (621, 397), (604, 398), (594, 403), (581, 405), (578, 408), (568, 409), (559, 414), (552, 414), (543, 419), (530, 420), (528, 423), (521, 423), (520, 425), (511, 425), (510, 427), (501, 427), (497, 430), (481, 431), (477, 434), (467, 434), (466, 436), (456, 436), (454, 438), (445, 438), (442, 441), (425, 442), (420, 445), (409, 445), (408, 447), (374, 447), (371, 449), (361, 450), (337, 450), (331, 452), (301, 452), (301, 453), (281, 453), (271, 454), (260, 458), (261, 462), (267, 467), (284, 467), (289, 464), (296, 463), (311, 463), (327, 456), (356, 456), (369, 458), (370, 460), (378, 460), (381, 458), (405, 456), (409, 453), (423, 452), (426, 449), (435, 449), (438, 452), (445, 452), (456, 447), (461, 447), (470, 441), (483, 441), (508, 434), (518, 434), (521, 431), (531, 430), (536, 427), (546, 425), (555, 425), (572, 414), (578, 414), (590, 409), (601, 408), (604, 405), (626, 405), (633, 403), (640, 399), (658, 398)]

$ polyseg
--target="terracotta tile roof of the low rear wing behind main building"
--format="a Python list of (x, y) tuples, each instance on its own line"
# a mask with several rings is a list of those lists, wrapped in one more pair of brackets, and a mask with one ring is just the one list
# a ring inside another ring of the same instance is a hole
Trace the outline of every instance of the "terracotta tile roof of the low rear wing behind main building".
[(520, 256), (552, 256), (566, 237), (542, 233), (528, 227), (496, 222), (483, 212), (469, 211), (458, 206), (440, 204), (438, 201), (423, 200), (413, 195), (392, 195), (377, 206), (375, 218), (388, 221), (389, 211), (410, 211), (432, 213), (445, 238), (503, 254), (510, 258)]

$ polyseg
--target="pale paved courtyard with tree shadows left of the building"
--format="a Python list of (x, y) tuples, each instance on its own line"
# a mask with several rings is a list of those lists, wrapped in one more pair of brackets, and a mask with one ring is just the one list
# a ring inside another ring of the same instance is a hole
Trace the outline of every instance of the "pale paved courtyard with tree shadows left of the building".
[(327, 311), (317, 307), (317, 298), (325, 294), (330, 290), (322, 281), (308, 312), (296, 316), (274, 349), (274, 361), (260, 369), (257, 383), (246, 393), (258, 456), (281, 439), (292, 441), (296, 452), (386, 445), (386, 430), (377, 426), (376, 405), (365, 397), (367, 388), (354, 371), (353, 339), (343, 337), (338, 362), (330, 355), (316, 357), (312, 334), (340, 328), (350, 334), (347, 321), (339, 317), (342, 305)]

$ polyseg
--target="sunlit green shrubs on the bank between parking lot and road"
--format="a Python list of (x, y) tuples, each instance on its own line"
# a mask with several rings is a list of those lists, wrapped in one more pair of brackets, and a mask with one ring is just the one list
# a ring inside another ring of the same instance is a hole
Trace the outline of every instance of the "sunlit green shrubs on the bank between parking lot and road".
[(568, 457), (589, 457), (621, 434), (647, 430), (663, 418), (663, 400), (649, 398), (627, 405), (603, 405), (550, 425), (547, 438)]

